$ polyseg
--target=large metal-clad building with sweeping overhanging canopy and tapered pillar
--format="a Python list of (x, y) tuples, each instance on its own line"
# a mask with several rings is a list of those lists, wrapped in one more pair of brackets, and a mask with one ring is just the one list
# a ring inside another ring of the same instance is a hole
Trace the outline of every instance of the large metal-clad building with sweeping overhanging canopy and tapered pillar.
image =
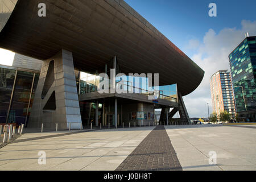
[(43, 60), (27, 127), (191, 122), (182, 97), (204, 71), (125, 1), (0, 3), (0, 47)]

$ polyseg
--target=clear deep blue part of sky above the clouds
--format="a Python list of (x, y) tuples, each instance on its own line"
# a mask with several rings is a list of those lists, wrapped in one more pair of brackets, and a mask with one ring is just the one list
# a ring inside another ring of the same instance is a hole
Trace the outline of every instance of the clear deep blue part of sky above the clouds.
[[(255, 20), (254, 0), (125, 0), (133, 9), (167, 36), (177, 47), (184, 49), (188, 40), (203, 42), (210, 28), (218, 32), (225, 27), (241, 28), (241, 21)], [(217, 17), (208, 15), (209, 3), (216, 3)], [(188, 52), (191, 57), (193, 52)]]

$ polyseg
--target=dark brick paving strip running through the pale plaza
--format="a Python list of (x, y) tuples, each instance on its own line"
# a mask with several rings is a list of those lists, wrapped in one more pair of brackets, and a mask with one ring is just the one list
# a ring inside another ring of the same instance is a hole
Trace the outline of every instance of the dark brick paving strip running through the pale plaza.
[(182, 171), (164, 126), (154, 130), (134, 149), (115, 171)]

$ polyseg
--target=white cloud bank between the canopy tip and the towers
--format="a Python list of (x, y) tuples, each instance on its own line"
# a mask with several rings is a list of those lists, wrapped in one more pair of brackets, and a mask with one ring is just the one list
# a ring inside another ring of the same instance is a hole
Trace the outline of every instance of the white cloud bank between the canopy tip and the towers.
[[(210, 76), (220, 69), (230, 70), (229, 53), (245, 39), (245, 32), (249, 32), (249, 36), (256, 35), (256, 21), (242, 20), (241, 24), (241, 29), (224, 28), (218, 34), (210, 29), (204, 35), (203, 43), (196, 46), (196, 53), (191, 59), (205, 71), (205, 75), (199, 87), (184, 97), (189, 117), (208, 117), (207, 102), (212, 113)], [(196, 41), (190, 40), (185, 48), (190, 48), (193, 43)]]

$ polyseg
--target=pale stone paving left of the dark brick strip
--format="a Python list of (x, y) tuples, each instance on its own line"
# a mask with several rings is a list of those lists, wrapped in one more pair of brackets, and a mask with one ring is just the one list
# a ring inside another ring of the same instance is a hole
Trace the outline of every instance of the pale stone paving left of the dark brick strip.
[[(152, 129), (23, 134), (19, 142), (0, 148), (0, 171), (114, 170)], [(46, 165), (38, 164), (39, 151), (46, 152)]]

